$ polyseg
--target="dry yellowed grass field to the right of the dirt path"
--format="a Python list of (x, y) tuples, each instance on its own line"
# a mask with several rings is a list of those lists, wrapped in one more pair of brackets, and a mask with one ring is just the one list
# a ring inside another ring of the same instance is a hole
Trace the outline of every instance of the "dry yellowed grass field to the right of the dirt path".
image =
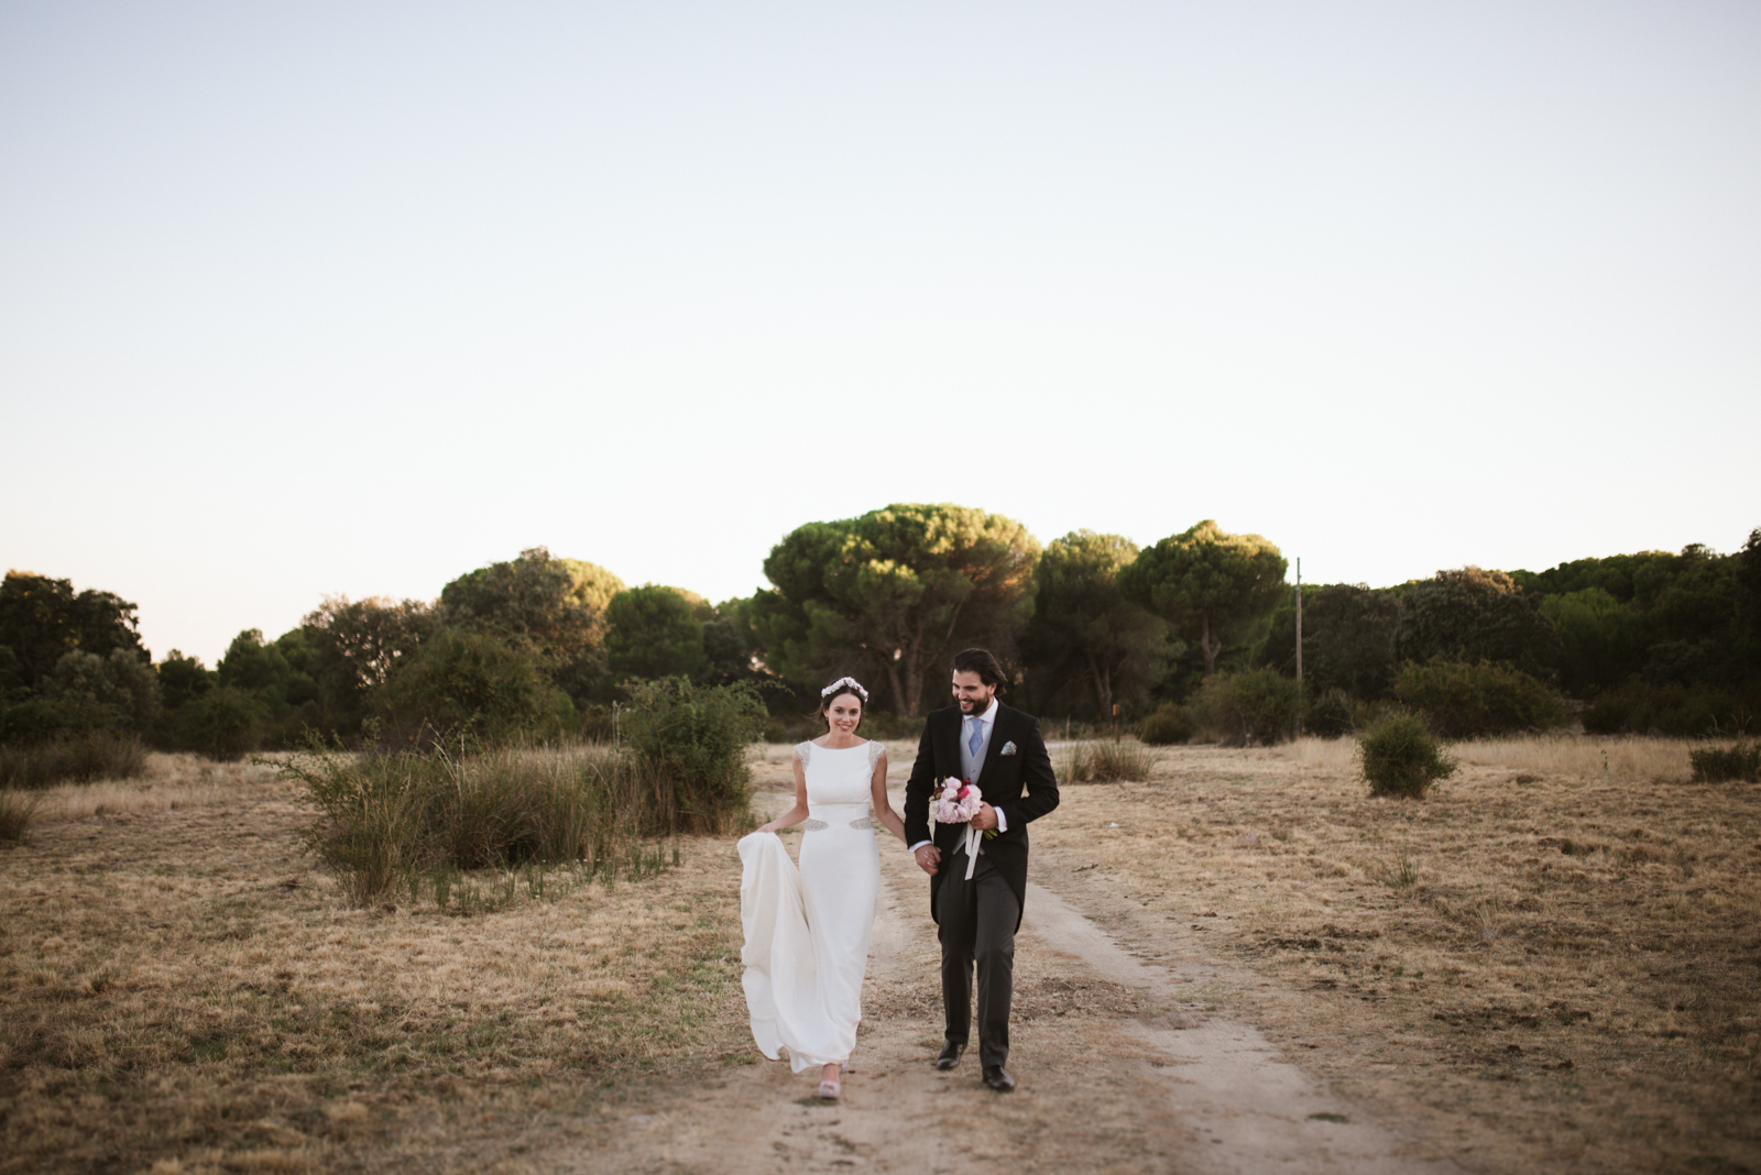
[(1041, 883), (1467, 1166), (1761, 1170), (1761, 788), (1661, 739), (1463, 744), (1372, 800), (1349, 741), (1065, 788)]

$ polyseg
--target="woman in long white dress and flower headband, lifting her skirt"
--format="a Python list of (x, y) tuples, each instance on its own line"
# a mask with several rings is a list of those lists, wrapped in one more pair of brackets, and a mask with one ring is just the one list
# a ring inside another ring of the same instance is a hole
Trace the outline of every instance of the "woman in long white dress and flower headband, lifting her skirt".
[[(854, 677), (819, 691), (826, 733), (794, 748), (794, 807), (740, 841), (740, 960), (752, 1040), (771, 1061), (787, 1048), (796, 1073), (821, 1066), (821, 1098), (844, 1092), (838, 1076), (863, 1018), (880, 897), (873, 821), (905, 841), (886, 797), (886, 748), (856, 737), (866, 705)], [(775, 834), (801, 820), (798, 871)]]

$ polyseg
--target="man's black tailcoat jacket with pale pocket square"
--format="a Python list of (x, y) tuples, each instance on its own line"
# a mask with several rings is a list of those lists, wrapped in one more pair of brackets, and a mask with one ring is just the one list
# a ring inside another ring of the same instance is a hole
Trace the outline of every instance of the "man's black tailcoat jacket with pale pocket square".
[[(939, 779), (960, 777), (958, 705), (933, 711), (923, 723), (923, 741), (917, 744), (917, 762), (905, 783), (905, 843), (930, 839), (930, 795)], [(1014, 744), (1014, 755), (1004, 748)], [(997, 704), (997, 723), (991, 726), (990, 746), (984, 748), (984, 765), (979, 769), (979, 792), (991, 807), (1000, 807), (1009, 830), (984, 841), (984, 855), (997, 872), (1014, 890), (1018, 908), (1027, 906), (1027, 825), (1058, 806), (1058, 781), (1051, 774), (1051, 756), (1039, 735), (1039, 719), (1032, 714)], [(942, 850), (942, 864), (930, 878), (930, 916), (935, 918), (935, 894), (942, 878), (954, 867), (954, 846), (965, 834), (965, 825), (935, 825), (935, 846)], [(965, 869), (965, 857), (960, 869)], [(1016, 929), (1021, 920), (1016, 918)]]

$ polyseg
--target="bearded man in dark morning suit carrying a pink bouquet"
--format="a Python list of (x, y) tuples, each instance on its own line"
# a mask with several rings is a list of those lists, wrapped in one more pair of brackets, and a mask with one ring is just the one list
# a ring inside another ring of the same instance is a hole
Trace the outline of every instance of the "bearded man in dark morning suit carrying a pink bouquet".
[[(1014, 1089), (1004, 1069), (1009, 1059), (1009, 999), (1014, 994), (1014, 932), (1027, 895), (1027, 825), (1058, 806), (1039, 719), (997, 700), (1004, 675), (986, 649), (954, 658), (954, 705), (923, 725), (917, 762), (905, 783), (905, 841), (930, 874), (930, 916), (942, 939), (942, 1008), (947, 1043), (937, 1069), (960, 1062), (972, 1033), (972, 964), (979, 973), (979, 1064), (997, 1092)], [(997, 836), (979, 841), (979, 858), (967, 858), (963, 825), (935, 825), (930, 837), (930, 797), (942, 779), (977, 785), (984, 804), (972, 818)]]

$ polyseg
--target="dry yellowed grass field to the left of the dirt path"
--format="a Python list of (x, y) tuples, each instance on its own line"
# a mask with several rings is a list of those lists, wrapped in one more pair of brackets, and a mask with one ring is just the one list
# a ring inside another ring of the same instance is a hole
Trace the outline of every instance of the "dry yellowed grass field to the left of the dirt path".
[(0, 850), (0, 1171), (484, 1170), (738, 1048), (726, 844), (641, 885), (477, 878), (495, 913), (359, 911), (298, 799), (164, 756)]

